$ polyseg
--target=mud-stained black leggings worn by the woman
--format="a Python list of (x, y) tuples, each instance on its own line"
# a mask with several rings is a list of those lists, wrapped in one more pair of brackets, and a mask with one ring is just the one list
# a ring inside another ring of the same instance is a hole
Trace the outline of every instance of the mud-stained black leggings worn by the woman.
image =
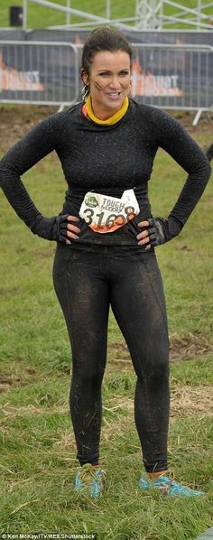
[(73, 251), (57, 248), (53, 280), (72, 349), (69, 404), (80, 464), (99, 460), (101, 384), (106, 367), (109, 306), (123, 333), (137, 376), (134, 418), (144, 467), (167, 469), (169, 345), (162, 278), (155, 255), (132, 260), (112, 247)]

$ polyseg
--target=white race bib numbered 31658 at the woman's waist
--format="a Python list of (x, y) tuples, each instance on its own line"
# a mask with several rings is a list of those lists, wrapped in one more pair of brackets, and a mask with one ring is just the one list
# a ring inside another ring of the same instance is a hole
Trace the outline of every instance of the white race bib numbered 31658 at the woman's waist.
[(79, 216), (94, 232), (114, 232), (139, 214), (134, 190), (125, 190), (121, 199), (88, 191), (79, 209)]

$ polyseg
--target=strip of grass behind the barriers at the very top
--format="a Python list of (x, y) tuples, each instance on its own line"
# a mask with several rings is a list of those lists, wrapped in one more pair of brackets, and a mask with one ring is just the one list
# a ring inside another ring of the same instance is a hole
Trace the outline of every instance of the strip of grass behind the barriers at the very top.
[[(66, 0), (57, 0), (56, 4), (67, 5)], [(184, 7), (190, 7), (191, 9), (195, 8), (198, 5), (197, 0), (178, 0), (178, 4), (183, 5)], [(207, 5), (205, 0), (202, 0), (202, 5)], [(9, 8), (11, 5), (23, 5), (22, 0), (1, 0), (0, 6), (0, 26), (9, 26)], [(71, 0), (71, 7), (73, 9), (78, 9), (79, 11), (84, 11), (87, 13), (95, 14), (101, 17), (106, 16), (106, 0)], [(179, 10), (172, 5), (166, 5), (163, 8), (163, 14), (171, 15), (177, 14)], [(28, 28), (43, 28), (45, 26), (53, 26), (56, 24), (65, 24), (66, 15), (61, 14), (58, 11), (51, 10), (49, 8), (41, 7), (40, 5), (33, 5), (30, 1), (28, 2), (27, 8), (27, 22)], [(110, 2), (110, 18), (116, 19), (119, 17), (134, 17), (135, 13), (135, 1), (134, 0), (111, 0)], [(207, 7), (205, 9), (205, 14), (209, 14), (212, 18), (212, 8)], [(187, 15), (188, 16), (188, 15)], [(82, 18), (78, 18), (76, 15), (71, 15), (71, 23), (86, 22)], [(178, 28), (180, 24), (176, 24)], [(186, 28), (186, 25), (184, 25)], [(183, 27), (183, 26), (182, 26)]]

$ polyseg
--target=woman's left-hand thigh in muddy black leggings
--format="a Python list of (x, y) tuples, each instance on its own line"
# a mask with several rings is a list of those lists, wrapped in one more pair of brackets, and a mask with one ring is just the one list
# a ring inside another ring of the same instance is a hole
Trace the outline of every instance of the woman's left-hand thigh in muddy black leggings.
[[(56, 256), (57, 257), (57, 256)], [(106, 363), (109, 290), (100, 257), (55, 259), (53, 283), (69, 331), (73, 364), (92, 371)]]

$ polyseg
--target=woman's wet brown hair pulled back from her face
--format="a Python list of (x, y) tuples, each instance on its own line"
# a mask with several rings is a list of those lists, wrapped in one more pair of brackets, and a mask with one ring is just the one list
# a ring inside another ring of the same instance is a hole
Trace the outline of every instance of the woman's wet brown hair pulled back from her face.
[[(96, 53), (100, 51), (125, 51), (129, 55), (131, 65), (133, 51), (124, 33), (110, 28), (96, 28), (88, 34), (86, 42), (84, 43), (80, 68), (81, 79), (83, 79), (85, 73), (89, 75), (93, 58)], [(88, 97), (88, 94), (89, 86), (85, 85), (81, 92), (81, 97), (85, 99)]]

